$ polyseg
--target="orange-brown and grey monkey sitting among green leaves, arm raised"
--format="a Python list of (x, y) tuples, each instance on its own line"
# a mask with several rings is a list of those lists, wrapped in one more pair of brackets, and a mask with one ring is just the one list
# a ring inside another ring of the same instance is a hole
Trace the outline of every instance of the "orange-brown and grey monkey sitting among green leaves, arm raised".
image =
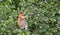
[(25, 30), (28, 30), (28, 24), (25, 20), (25, 18), (27, 17), (28, 15), (24, 16), (24, 13), (23, 12), (20, 12), (19, 13), (19, 17), (18, 17), (18, 26), (20, 27), (20, 29), (25, 29)]

